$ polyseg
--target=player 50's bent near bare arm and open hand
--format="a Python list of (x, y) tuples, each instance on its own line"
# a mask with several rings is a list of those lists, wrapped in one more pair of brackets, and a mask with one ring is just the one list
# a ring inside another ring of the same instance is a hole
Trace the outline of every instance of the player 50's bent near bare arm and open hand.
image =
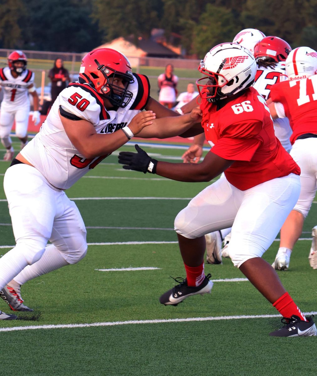
[[(71, 143), (87, 159), (110, 154), (130, 139), (122, 129), (114, 133), (99, 134), (87, 120), (71, 120), (61, 115), (60, 118)], [(131, 132), (136, 134), (150, 126), (154, 119), (155, 114), (152, 111), (142, 111), (128, 126)]]

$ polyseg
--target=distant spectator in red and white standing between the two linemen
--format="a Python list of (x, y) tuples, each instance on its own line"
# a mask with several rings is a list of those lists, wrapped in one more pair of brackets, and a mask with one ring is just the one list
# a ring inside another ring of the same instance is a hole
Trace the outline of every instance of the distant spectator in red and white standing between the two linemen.
[(174, 67), (168, 64), (165, 72), (160, 74), (157, 79), (159, 86), (159, 102), (161, 105), (172, 108), (176, 102), (178, 77), (173, 74)]

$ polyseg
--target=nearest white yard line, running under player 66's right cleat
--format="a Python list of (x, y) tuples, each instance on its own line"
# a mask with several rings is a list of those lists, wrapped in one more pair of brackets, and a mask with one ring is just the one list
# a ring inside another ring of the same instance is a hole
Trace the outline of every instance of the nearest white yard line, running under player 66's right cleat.
[[(304, 315), (315, 315), (317, 312), (305, 312)], [(29, 325), (29, 326), (15, 326), (0, 328), (0, 332), (14, 332), (29, 329), (67, 329), (67, 328), (82, 328), (94, 326), (119, 326), (129, 324), (162, 324), (162, 323), (183, 323), (191, 321), (219, 321), (219, 320), (237, 320), (248, 318), (281, 318), (281, 315), (236, 315), (236, 316), (218, 316), (218, 317), (189, 317), (189, 318), (170, 318), (162, 320), (130, 320), (130, 321), (108, 321), (104, 323), (90, 323), (90, 324), (58, 324), (58, 325)]]

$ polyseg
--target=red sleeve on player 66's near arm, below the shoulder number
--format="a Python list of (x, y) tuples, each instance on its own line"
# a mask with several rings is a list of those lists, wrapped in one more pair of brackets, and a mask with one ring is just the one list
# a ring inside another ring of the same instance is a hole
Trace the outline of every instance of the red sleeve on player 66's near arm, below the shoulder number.
[(261, 120), (245, 120), (224, 127), (211, 151), (231, 161), (251, 161), (262, 143), (256, 138), (261, 129)]

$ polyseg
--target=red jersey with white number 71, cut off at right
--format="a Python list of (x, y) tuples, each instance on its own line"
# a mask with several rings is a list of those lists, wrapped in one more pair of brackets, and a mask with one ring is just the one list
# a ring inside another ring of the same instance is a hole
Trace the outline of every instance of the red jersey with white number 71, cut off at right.
[(276, 83), (271, 99), (284, 107), (293, 130), (292, 144), (304, 133), (317, 133), (317, 75)]

